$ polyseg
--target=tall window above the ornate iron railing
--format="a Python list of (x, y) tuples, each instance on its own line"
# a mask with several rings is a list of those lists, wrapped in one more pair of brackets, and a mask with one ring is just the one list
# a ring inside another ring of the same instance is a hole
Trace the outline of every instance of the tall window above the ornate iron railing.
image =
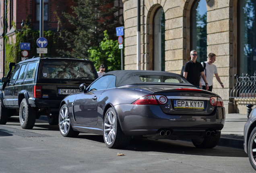
[(238, 1), (238, 74), (256, 72), (256, 1)]

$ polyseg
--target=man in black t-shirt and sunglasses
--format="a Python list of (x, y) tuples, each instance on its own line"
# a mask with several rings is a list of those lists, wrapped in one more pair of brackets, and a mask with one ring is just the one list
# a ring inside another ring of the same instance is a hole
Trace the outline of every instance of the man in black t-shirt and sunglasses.
[(209, 87), (204, 74), (202, 64), (196, 61), (196, 58), (197, 58), (196, 50), (191, 50), (190, 57), (191, 57), (191, 60), (186, 62), (186, 64), (184, 65), (183, 76), (188, 80), (188, 82), (193, 84), (196, 88), (200, 89), (200, 75), (201, 75), (202, 79), (205, 82), (206, 90), (208, 90)]

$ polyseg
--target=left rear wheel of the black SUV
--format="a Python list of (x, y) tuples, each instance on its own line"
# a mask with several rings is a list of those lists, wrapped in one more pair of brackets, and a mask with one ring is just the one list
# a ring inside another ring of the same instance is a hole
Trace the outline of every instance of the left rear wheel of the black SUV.
[(20, 124), (23, 129), (33, 129), (35, 125), (35, 117), (36, 117), (35, 108), (30, 107), (27, 104), (26, 99), (23, 99), (21, 101), (19, 117), (20, 117)]

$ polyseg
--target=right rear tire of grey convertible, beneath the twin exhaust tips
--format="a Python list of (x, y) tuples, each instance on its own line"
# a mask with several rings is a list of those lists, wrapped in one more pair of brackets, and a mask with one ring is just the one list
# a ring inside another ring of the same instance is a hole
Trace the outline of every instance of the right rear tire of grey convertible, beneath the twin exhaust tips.
[(214, 136), (201, 138), (201, 139), (192, 139), (192, 143), (196, 148), (213, 148), (219, 143), (221, 138), (221, 132), (217, 133)]

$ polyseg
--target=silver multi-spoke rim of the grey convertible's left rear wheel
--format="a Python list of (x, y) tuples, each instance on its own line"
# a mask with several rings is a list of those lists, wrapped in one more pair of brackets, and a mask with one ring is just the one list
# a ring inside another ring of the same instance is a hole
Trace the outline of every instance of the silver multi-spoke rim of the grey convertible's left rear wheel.
[(104, 138), (107, 145), (111, 145), (116, 135), (116, 117), (109, 111), (104, 119)]

